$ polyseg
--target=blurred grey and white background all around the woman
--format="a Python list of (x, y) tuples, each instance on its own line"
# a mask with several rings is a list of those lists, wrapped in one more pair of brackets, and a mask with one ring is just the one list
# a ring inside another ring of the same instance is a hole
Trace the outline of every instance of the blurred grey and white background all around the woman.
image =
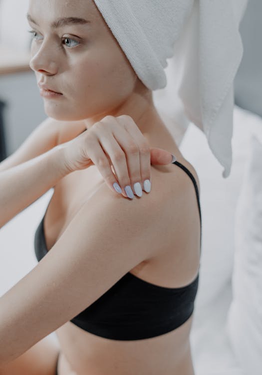
[[(28, 0), (0, 0), (0, 161), (46, 118), (28, 65), (27, 5)], [(196, 375), (262, 373), (261, 15), (262, 0), (249, 0), (240, 25), (244, 55), (234, 83), (231, 175), (223, 179), (222, 166), (194, 124), (173, 132), (201, 185), (202, 259), (191, 332)], [(0, 296), (37, 264), (34, 232), (51, 194), (52, 189), (0, 228)], [(50, 338), (56, 340), (55, 334)]]

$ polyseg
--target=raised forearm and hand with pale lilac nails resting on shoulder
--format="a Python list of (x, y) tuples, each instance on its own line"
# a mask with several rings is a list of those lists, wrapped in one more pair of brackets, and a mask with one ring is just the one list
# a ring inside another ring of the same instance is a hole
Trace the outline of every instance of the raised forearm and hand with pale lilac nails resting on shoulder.
[(133, 197), (134, 183), (143, 188), (144, 181), (151, 179), (150, 163), (171, 162), (170, 152), (149, 147), (132, 117), (105, 116), (72, 140), (0, 171), (0, 228), (72, 171), (96, 165), (115, 194), (113, 184), (119, 183), (124, 197), (128, 196), (124, 188), (132, 186), (127, 191)]

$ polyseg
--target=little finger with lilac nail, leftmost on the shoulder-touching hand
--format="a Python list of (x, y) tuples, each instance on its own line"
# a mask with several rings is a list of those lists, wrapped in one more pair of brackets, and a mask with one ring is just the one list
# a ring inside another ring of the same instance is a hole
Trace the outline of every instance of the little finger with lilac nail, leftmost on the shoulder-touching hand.
[[(108, 187), (114, 193), (123, 192), (119, 190), (120, 187), (118, 188), (118, 181), (111, 169), (110, 160), (108, 159), (108, 156), (105, 154), (105, 151), (100, 144), (100, 139), (97, 138), (97, 144), (95, 145), (95, 147), (88, 148), (88, 157), (96, 165)], [(114, 186), (116, 186), (116, 188), (114, 188)]]

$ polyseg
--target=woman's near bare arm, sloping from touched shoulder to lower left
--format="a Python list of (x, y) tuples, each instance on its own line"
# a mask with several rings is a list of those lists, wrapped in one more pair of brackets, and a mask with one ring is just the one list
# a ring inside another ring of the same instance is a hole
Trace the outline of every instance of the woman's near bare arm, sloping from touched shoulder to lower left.
[(166, 219), (158, 195), (153, 187), (129, 200), (101, 185), (39, 263), (0, 298), (0, 362), (71, 320), (159, 250), (159, 221)]

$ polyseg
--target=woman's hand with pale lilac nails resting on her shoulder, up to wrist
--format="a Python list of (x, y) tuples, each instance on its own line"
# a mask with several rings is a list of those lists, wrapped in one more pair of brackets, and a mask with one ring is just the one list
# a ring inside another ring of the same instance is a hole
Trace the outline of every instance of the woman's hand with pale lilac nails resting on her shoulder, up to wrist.
[(87, 131), (58, 147), (64, 150), (68, 173), (96, 165), (108, 187), (116, 193), (118, 184), (122, 190), (118, 189), (118, 192), (125, 197), (133, 197), (132, 192), (141, 196), (139, 183), (142, 189), (150, 191), (150, 164), (165, 165), (172, 162), (170, 152), (149, 147), (129, 115), (105, 116)]

